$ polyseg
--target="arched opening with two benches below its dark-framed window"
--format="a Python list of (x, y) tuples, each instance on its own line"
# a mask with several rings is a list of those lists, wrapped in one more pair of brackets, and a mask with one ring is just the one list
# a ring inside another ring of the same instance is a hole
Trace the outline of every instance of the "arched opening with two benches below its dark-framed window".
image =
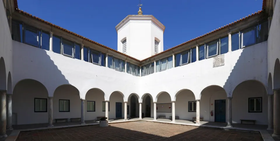
[[(79, 90), (73, 85), (60, 85), (53, 94), (53, 119), (81, 117), (81, 98)], [(64, 122), (59, 120), (57, 122)]]

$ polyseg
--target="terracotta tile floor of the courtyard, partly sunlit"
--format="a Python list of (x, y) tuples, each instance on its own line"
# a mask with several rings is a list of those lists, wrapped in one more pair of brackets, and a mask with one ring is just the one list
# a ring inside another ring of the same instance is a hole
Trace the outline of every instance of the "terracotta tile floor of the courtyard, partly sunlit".
[(225, 131), (222, 129), (198, 128), (154, 122), (125, 122), (109, 127), (83, 126), (22, 132), (17, 141), (47, 140), (190, 140), (190, 141), (261, 141), (260, 133)]

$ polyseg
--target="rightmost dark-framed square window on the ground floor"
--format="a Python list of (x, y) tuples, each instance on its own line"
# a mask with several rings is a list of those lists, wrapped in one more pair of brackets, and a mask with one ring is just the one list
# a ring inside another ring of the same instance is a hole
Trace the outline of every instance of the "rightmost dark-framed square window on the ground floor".
[(262, 97), (248, 98), (248, 112), (262, 113)]

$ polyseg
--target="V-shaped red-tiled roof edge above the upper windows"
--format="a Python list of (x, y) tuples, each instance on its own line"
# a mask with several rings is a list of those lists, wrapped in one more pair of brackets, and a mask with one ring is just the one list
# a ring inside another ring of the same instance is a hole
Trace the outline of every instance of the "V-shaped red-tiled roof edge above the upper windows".
[[(16, 1), (16, 0), (14, 0), (14, 1)], [(264, 0), (264, 1), (265, 1), (265, 0)], [(87, 40), (87, 41), (89, 41), (89, 42), (92, 42), (92, 43), (94, 43), (94, 44), (97, 44), (97, 45), (99, 45), (99, 46), (101, 46), (101, 47), (103, 47), (103, 48), (109, 49), (109, 50), (111, 50), (111, 51), (114, 51), (114, 52), (116, 52), (116, 53), (119, 53), (119, 54), (121, 54), (121, 55), (123, 55), (123, 56), (126, 56), (126, 57), (128, 57), (128, 58), (131, 58), (131, 59), (136, 60), (136, 61), (138, 61), (138, 62), (143, 62), (143, 61), (145, 61), (145, 60), (148, 60), (149, 58), (153, 58), (153, 57), (155, 57), (155, 56), (158, 56), (158, 55), (160, 55), (160, 54), (162, 54), (162, 53), (168, 52), (168, 51), (170, 51), (170, 50), (172, 50), (172, 49), (175, 49), (175, 48), (177, 48), (177, 47), (181, 47), (181, 46), (183, 46), (183, 45), (185, 45), (185, 44), (187, 44), (187, 43), (189, 43), (189, 42), (191, 42), (191, 41), (194, 41), (194, 40), (197, 40), (197, 39), (199, 39), (199, 38), (202, 38), (202, 37), (204, 37), (204, 36), (206, 36), (206, 35), (209, 35), (209, 34), (211, 34), (211, 33), (213, 33), (213, 32), (216, 32), (216, 31), (218, 31), (218, 30), (221, 30), (221, 29), (223, 29), (223, 28), (225, 28), (225, 27), (227, 27), (227, 26), (231, 26), (232, 24), (236, 24), (237, 22), (240, 22), (241, 20), (247, 19), (248, 17), (251, 17), (251, 16), (256, 15), (256, 14), (259, 14), (259, 13), (262, 13), (262, 12), (264, 11), (264, 10), (260, 10), (260, 11), (258, 11), (258, 12), (252, 13), (251, 15), (248, 15), (248, 16), (246, 16), (246, 17), (243, 17), (242, 19), (239, 19), (239, 20), (237, 20), (237, 21), (234, 21), (234, 22), (232, 22), (232, 23), (229, 23), (229, 24), (227, 24), (227, 25), (224, 25), (224, 26), (222, 26), (222, 27), (220, 27), (220, 28), (217, 28), (216, 30), (213, 30), (213, 31), (211, 31), (211, 32), (209, 32), (209, 33), (206, 33), (206, 34), (204, 34), (204, 35), (201, 35), (201, 36), (199, 36), (199, 37), (197, 37), (197, 38), (194, 38), (194, 39), (192, 39), (192, 40), (188, 40), (188, 41), (186, 41), (186, 42), (183, 42), (183, 43), (181, 43), (181, 44), (179, 44), (179, 45), (177, 45), (177, 46), (175, 46), (175, 47), (169, 48), (169, 49), (167, 49), (167, 50), (165, 50), (165, 51), (162, 51), (162, 52), (160, 52), (160, 53), (157, 53), (157, 54), (155, 54), (155, 55), (153, 55), (153, 56), (150, 56), (150, 57), (148, 57), (148, 58), (145, 58), (145, 59), (143, 59), (143, 60), (139, 60), (139, 59), (136, 59), (136, 58), (134, 58), (134, 57), (132, 57), (132, 56), (129, 56), (129, 55), (126, 55), (126, 54), (121, 53), (121, 52), (119, 52), (119, 51), (116, 51), (115, 49), (112, 49), (112, 48), (110, 48), (110, 47), (107, 47), (107, 46), (105, 46), (105, 45), (103, 45), (103, 44), (100, 44), (100, 43), (98, 43), (98, 42), (95, 42), (95, 41), (93, 41), (93, 40), (90, 40), (90, 39), (88, 39), (88, 38), (85, 38), (85, 37), (83, 37), (83, 36), (81, 36), (81, 35), (78, 35), (77, 33), (74, 33), (74, 32), (72, 32), (72, 31), (69, 31), (69, 30), (67, 30), (67, 29), (65, 29), (65, 28), (62, 28), (62, 27), (57, 26), (57, 25), (55, 25), (55, 24), (52, 24), (52, 23), (50, 23), (50, 22), (48, 22), (48, 21), (45, 21), (45, 20), (43, 20), (43, 19), (41, 19), (41, 18), (38, 18), (38, 17), (36, 17), (36, 16), (33, 16), (33, 15), (27, 13), (27, 12), (24, 12), (23, 10), (19, 10), (19, 9), (16, 9), (16, 10), (17, 10), (19, 13), (23, 13), (23, 14), (25, 14), (25, 15), (28, 15), (28, 16), (30, 16), (30, 17), (32, 17), (32, 18), (35, 18), (35, 19), (37, 19), (37, 20), (40, 20), (41, 22), (44, 22), (44, 23), (46, 23), (46, 24), (49, 24), (50, 26), (53, 26), (53, 27), (55, 27), (55, 28), (58, 28), (58, 29), (60, 29), (60, 30), (62, 30), (62, 31), (66, 31), (66, 32), (68, 32), (68, 33), (70, 33), (70, 34), (72, 34), (72, 35), (75, 35), (76, 37), (79, 37), (79, 38), (82, 38), (82, 39)]]

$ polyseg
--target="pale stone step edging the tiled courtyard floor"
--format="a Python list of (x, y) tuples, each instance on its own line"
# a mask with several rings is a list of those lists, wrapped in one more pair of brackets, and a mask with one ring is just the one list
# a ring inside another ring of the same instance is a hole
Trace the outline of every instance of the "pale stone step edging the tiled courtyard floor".
[[(178, 123), (178, 122), (164, 122), (164, 121), (153, 121), (153, 120), (124, 120), (124, 121), (116, 121), (116, 122), (109, 122), (109, 124), (114, 123), (123, 123), (123, 122), (137, 122), (137, 121), (145, 121), (145, 122), (158, 122), (158, 123), (165, 123), (165, 124), (176, 124), (176, 125), (186, 125), (186, 126), (196, 126), (199, 128), (219, 128), (229, 131), (239, 131), (239, 132), (252, 132), (252, 133), (260, 133), (262, 139), (264, 141), (274, 141), (272, 136), (266, 130), (256, 130), (256, 129), (247, 129), (247, 128), (238, 128), (238, 127), (220, 127), (220, 126), (212, 126), (212, 125), (196, 125), (196, 124), (186, 124), (186, 123)], [(77, 124), (77, 125), (67, 125), (67, 126), (53, 126), (53, 127), (43, 127), (43, 128), (33, 128), (33, 129), (22, 129), (22, 130), (13, 130), (12, 133), (6, 138), (5, 141), (15, 141), (17, 136), (20, 132), (27, 132), (27, 131), (35, 131), (35, 130), (46, 130), (46, 129), (58, 129), (58, 128), (68, 128), (68, 127), (78, 127), (78, 126), (90, 126), (90, 125), (98, 125), (99, 123), (92, 123), (92, 124)]]

